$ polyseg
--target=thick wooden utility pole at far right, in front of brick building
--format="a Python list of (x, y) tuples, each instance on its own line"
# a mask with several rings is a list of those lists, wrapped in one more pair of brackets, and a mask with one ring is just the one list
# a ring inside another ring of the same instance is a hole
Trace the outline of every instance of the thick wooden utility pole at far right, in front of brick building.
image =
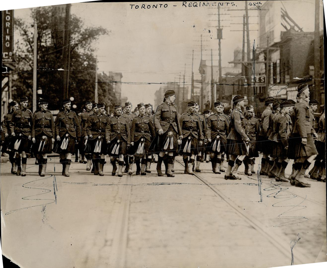
[[(315, 37), (314, 37), (314, 68), (315, 68), (315, 77), (314, 77), (314, 90), (313, 98), (318, 100), (321, 103), (321, 94), (320, 94), (320, 33), (319, 33), (319, 10), (320, 9), (320, 0), (315, 1)], [(320, 107), (318, 106), (318, 112)]]

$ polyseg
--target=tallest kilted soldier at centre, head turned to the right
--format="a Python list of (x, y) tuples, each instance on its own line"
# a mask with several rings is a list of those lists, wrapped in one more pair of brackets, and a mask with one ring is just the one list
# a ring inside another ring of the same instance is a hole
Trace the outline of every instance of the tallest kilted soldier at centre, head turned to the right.
[(167, 177), (175, 177), (172, 173), (172, 165), (174, 163), (174, 156), (178, 153), (178, 144), (183, 138), (179, 114), (175, 102), (175, 92), (167, 90), (164, 94), (164, 102), (158, 105), (154, 115), (154, 127), (158, 134), (157, 139), (154, 139), (154, 150), (159, 151), (157, 172), (158, 176), (163, 176), (161, 171), (161, 164), (165, 153), (168, 153), (167, 159)]

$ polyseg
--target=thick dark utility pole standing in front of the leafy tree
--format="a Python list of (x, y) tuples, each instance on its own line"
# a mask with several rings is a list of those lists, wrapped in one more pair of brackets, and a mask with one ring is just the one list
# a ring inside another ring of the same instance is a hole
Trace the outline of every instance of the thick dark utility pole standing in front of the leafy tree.
[(70, 43), (70, 7), (71, 4), (66, 4), (66, 15), (65, 15), (65, 30), (64, 30), (64, 41), (63, 41), (63, 51), (62, 59), (64, 66), (63, 74), (63, 87), (62, 87), (62, 98), (68, 98), (68, 77), (69, 77), (69, 43)]

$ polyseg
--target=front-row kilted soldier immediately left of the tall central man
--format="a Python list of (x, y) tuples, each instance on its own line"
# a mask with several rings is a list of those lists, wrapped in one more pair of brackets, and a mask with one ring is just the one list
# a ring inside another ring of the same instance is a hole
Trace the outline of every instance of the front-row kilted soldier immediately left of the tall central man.
[[(132, 127), (130, 130), (130, 140), (133, 148), (133, 154), (135, 157), (135, 163), (137, 165), (136, 175), (146, 175), (146, 165), (150, 163), (148, 157), (151, 160), (151, 153), (149, 153), (149, 146), (151, 141), (155, 137), (154, 126), (151, 119), (146, 115), (146, 107), (143, 103), (137, 105), (139, 115), (134, 117), (132, 121)], [(141, 170), (139, 170), (141, 160)]]

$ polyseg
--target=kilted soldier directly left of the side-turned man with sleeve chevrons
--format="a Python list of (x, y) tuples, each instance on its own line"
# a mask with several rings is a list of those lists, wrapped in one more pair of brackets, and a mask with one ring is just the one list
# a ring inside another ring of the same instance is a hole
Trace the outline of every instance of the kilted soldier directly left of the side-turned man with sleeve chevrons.
[(229, 122), (223, 115), (224, 107), (222, 103), (215, 102), (214, 106), (215, 113), (207, 119), (206, 137), (208, 140), (212, 171), (215, 174), (221, 174), (218, 168), (221, 164), (221, 155), (226, 151), (226, 133), (229, 129)]

